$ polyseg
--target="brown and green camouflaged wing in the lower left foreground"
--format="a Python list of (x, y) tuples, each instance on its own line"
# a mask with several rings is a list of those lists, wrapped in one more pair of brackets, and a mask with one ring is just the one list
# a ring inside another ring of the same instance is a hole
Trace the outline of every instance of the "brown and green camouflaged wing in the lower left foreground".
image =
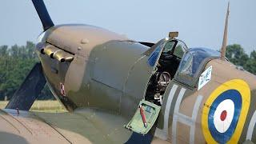
[(1, 143), (124, 143), (125, 118), (100, 110), (42, 113), (0, 110)]

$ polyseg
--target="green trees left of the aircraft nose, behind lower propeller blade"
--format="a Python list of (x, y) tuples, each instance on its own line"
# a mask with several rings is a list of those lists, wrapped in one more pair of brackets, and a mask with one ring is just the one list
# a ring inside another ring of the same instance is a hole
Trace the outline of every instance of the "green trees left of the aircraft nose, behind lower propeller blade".
[[(33, 42), (26, 42), (26, 46), (0, 46), (0, 100), (11, 98), (36, 62), (39, 59)], [(53, 98), (47, 86), (38, 97)]]

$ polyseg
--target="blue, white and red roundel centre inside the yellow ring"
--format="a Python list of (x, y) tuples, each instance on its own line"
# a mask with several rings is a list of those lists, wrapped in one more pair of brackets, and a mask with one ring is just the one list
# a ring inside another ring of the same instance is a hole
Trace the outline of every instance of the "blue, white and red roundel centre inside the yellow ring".
[(238, 90), (226, 90), (214, 100), (208, 114), (210, 134), (218, 143), (226, 143), (234, 134), (242, 106)]

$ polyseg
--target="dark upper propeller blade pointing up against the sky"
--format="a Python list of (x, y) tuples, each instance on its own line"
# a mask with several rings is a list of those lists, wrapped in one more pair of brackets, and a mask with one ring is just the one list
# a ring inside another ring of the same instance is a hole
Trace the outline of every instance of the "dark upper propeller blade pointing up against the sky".
[(51, 20), (50, 15), (46, 9), (46, 5), (43, 0), (32, 0), (35, 10), (38, 12), (38, 16), (42, 22), (43, 30), (48, 30), (51, 26), (54, 26), (54, 22)]

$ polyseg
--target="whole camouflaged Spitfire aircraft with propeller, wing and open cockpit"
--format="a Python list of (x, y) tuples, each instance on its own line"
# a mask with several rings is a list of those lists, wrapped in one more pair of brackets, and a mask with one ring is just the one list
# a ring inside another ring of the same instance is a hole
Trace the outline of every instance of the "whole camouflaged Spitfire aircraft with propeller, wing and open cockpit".
[[(137, 42), (97, 26), (55, 26), (32, 0), (43, 31), (40, 63), (0, 110), (1, 143), (253, 143), (256, 76), (221, 52), (189, 49), (177, 32)], [(47, 84), (69, 112), (29, 111)]]

